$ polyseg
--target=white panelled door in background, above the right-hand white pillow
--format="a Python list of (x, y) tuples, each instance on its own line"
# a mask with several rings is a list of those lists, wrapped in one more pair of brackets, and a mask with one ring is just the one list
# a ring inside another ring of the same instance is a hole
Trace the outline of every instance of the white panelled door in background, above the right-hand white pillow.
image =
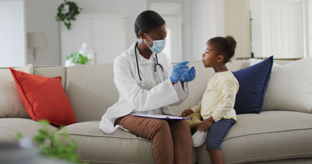
[(262, 11), (264, 57), (303, 58), (303, 0), (265, 0)]

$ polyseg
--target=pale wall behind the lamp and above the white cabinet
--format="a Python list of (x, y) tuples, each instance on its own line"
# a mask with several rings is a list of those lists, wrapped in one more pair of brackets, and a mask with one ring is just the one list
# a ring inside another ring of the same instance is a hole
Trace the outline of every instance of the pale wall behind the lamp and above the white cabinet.
[[(60, 28), (56, 22), (56, 9), (63, 0), (25, 0), (26, 31), (44, 32), (47, 48), (37, 49), (37, 65), (60, 65)], [(124, 13), (126, 17), (126, 45), (136, 41), (134, 20), (147, 8), (146, 0), (75, 0), (81, 13)], [(61, 25), (64, 25), (61, 23)], [(116, 34), (118, 35), (118, 34)], [(77, 50), (78, 51), (78, 50)], [(32, 50), (27, 51), (27, 61), (32, 63)]]

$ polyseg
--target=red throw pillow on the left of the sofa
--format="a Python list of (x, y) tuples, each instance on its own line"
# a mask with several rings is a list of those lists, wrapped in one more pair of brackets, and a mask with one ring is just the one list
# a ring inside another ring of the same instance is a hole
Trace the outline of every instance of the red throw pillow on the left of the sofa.
[(33, 120), (47, 120), (55, 125), (76, 123), (62, 77), (49, 78), (10, 68), (26, 112)]

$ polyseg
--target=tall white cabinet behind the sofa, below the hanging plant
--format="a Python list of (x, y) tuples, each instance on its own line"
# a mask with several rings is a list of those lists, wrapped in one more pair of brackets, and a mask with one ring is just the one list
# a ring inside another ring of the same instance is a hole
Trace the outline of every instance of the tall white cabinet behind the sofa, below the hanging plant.
[(113, 63), (126, 49), (125, 15), (80, 14), (71, 24), (71, 30), (61, 24), (61, 60), (78, 52), (82, 43), (88, 43), (95, 52), (95, 63)]

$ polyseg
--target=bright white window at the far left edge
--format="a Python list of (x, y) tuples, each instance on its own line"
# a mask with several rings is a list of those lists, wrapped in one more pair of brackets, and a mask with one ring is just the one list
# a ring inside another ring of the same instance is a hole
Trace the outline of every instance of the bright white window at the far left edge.
[(0, 1), (0, 67), (25, 65), (24, 2)]

